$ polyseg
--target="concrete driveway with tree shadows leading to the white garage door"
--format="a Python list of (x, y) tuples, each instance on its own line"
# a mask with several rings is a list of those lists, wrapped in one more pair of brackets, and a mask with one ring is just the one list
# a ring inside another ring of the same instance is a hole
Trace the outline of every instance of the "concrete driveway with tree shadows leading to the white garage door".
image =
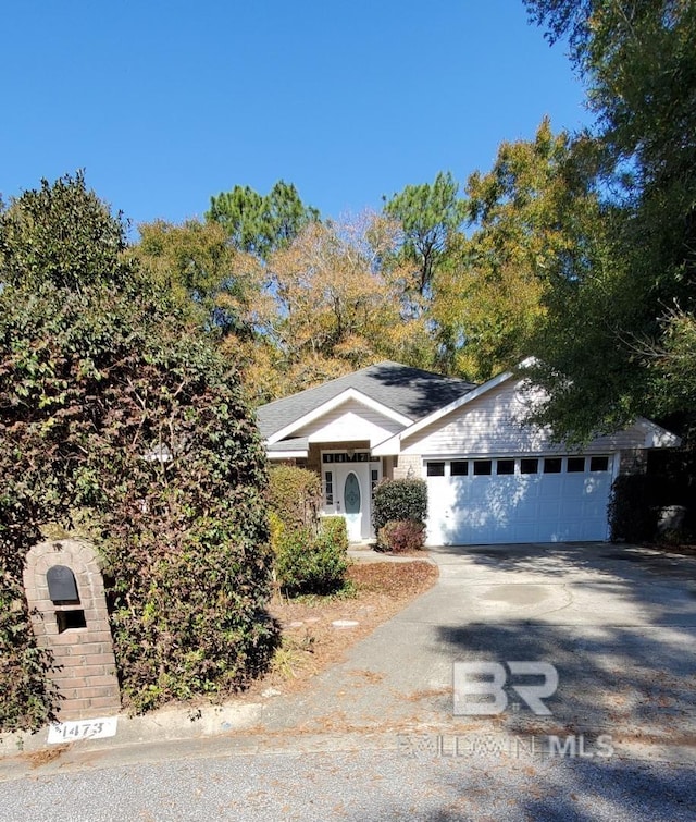
[[(604, 733), (624, 750), (695, 750), (696, 559), (602, 543), (438, 548), (430, 557), (437, 585), (310, 694), (268, 703), (264, 725)], [(523, 707), (455, 717), (452, 663), (469, 660), (552, 664), (551, 716)]]

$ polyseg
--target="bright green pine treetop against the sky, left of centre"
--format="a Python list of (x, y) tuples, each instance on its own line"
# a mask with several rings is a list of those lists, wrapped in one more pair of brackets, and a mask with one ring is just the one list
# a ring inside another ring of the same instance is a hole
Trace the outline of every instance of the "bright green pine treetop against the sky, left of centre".
[(220, 223), (239, 250), (266, 259), (320, 216), (315, 208), (304, 206), (291, 183), (279, 180), (266, 196), (236, 185), (211, 197), (206, 219)]

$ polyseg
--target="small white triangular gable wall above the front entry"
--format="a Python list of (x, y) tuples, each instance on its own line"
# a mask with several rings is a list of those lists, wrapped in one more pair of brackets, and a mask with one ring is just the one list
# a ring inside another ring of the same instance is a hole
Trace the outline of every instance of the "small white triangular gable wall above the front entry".
[(294, 433), (296, 437), (307, 437), (310, 443), (350, 442), (351, 447), (357, 447), (357, 441), (376, 445), (402, 429), (401, 424), (362, 405), (357, 400), (347, 400)]

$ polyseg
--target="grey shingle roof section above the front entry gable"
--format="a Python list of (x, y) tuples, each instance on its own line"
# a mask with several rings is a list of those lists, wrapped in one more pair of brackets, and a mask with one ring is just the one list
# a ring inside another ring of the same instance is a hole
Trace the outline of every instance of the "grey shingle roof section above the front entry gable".
[(262, 437), (271, 437), (350, 388), (415, 421), (458, 400), (475, 385), (455, 377), (442, 377), (385, 360), (262, 405), (257, 410)]

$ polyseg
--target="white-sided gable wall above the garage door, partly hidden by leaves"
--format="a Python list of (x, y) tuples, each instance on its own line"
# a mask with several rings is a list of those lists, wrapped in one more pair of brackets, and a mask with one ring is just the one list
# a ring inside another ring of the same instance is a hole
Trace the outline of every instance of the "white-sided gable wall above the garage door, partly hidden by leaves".
[[(523, 425), (535, 396), (522, 393), (521, 381), (508, 380), (452, 412), (401, 443), (403, 455), (490, 456), (505, 454), (564, 454), (567, 445), (552, 442), (550, 431)], [(609, 437), (600, 437), (583, 453), (609, 453), (637, 449), (645, 432), (634, 426)], [(400, 465), (400, 462), (399, 462)]]

